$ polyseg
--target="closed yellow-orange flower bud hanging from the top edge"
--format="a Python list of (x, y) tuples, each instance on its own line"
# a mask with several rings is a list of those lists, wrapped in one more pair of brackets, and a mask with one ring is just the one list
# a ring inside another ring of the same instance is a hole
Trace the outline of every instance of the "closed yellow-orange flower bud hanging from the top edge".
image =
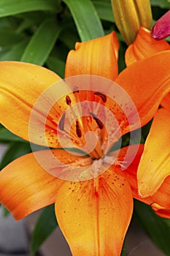
[(151, 29), (150, 0), (112, 0), (112, 10), (117, 28), (127, 45), (134, 42), (140, 26)]

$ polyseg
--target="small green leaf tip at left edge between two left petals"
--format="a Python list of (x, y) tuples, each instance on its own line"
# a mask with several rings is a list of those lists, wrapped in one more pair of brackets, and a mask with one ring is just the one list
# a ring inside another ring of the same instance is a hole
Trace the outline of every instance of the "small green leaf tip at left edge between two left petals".
[(9, 130), (4, 127), (0, 129), (0, 141), (1, 142), (14, 141), (14, 142), (27, 143), (26, 140), (23, 140), (22, 138), (18, 137), (12, 132), (9, 132)]

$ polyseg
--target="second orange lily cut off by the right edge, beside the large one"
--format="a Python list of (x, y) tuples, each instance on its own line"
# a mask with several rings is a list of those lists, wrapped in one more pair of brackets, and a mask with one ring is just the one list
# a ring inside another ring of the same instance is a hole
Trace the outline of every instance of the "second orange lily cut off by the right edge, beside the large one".
[[(151, 36), (150, 31), (142, 27), (136, 40), (126, 51), (126, 64), (130, 65), (135, 61), (154, 56), (156, 53), (166, 50), (167, 53), (170, 50), (168, 42), (164, 40), (156, 41)], [(139, 162), (137, 178), (139, 193), (142, 197), (155, 194), (170, 175), (170, 94), (163, 98), (161, 106), (163, 108), (159, 109), (153, 118), (149, 135), (144, 144), (144, 152)], [(166, 211), (170, 212), (170, 208)], [(163, 207), (161, 212), (163, 213)], [(164, 217), (164, 214), (161, 216)]]

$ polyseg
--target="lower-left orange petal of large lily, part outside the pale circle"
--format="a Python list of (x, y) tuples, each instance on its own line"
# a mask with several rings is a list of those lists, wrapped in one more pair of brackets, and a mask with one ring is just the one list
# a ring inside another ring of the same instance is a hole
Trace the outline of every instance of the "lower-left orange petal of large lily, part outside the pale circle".
[(7, 165), (0, 173), (1, 203), (15, 219), (55, 201), (60, 182), (45, 172), (33, 154)]

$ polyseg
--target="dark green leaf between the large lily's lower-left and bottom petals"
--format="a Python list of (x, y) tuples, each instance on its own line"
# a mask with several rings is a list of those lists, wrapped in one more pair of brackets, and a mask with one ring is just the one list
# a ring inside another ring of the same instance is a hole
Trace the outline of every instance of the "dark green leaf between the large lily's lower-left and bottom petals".
[(57, 226), (58, 223), (55, 217), (54, 205), (47, 206), (42, 211), (42, 214), (39, 216), (34, 227), (34, 231), (31, 236), (31, 254), (38, 251), (39, 247)]

